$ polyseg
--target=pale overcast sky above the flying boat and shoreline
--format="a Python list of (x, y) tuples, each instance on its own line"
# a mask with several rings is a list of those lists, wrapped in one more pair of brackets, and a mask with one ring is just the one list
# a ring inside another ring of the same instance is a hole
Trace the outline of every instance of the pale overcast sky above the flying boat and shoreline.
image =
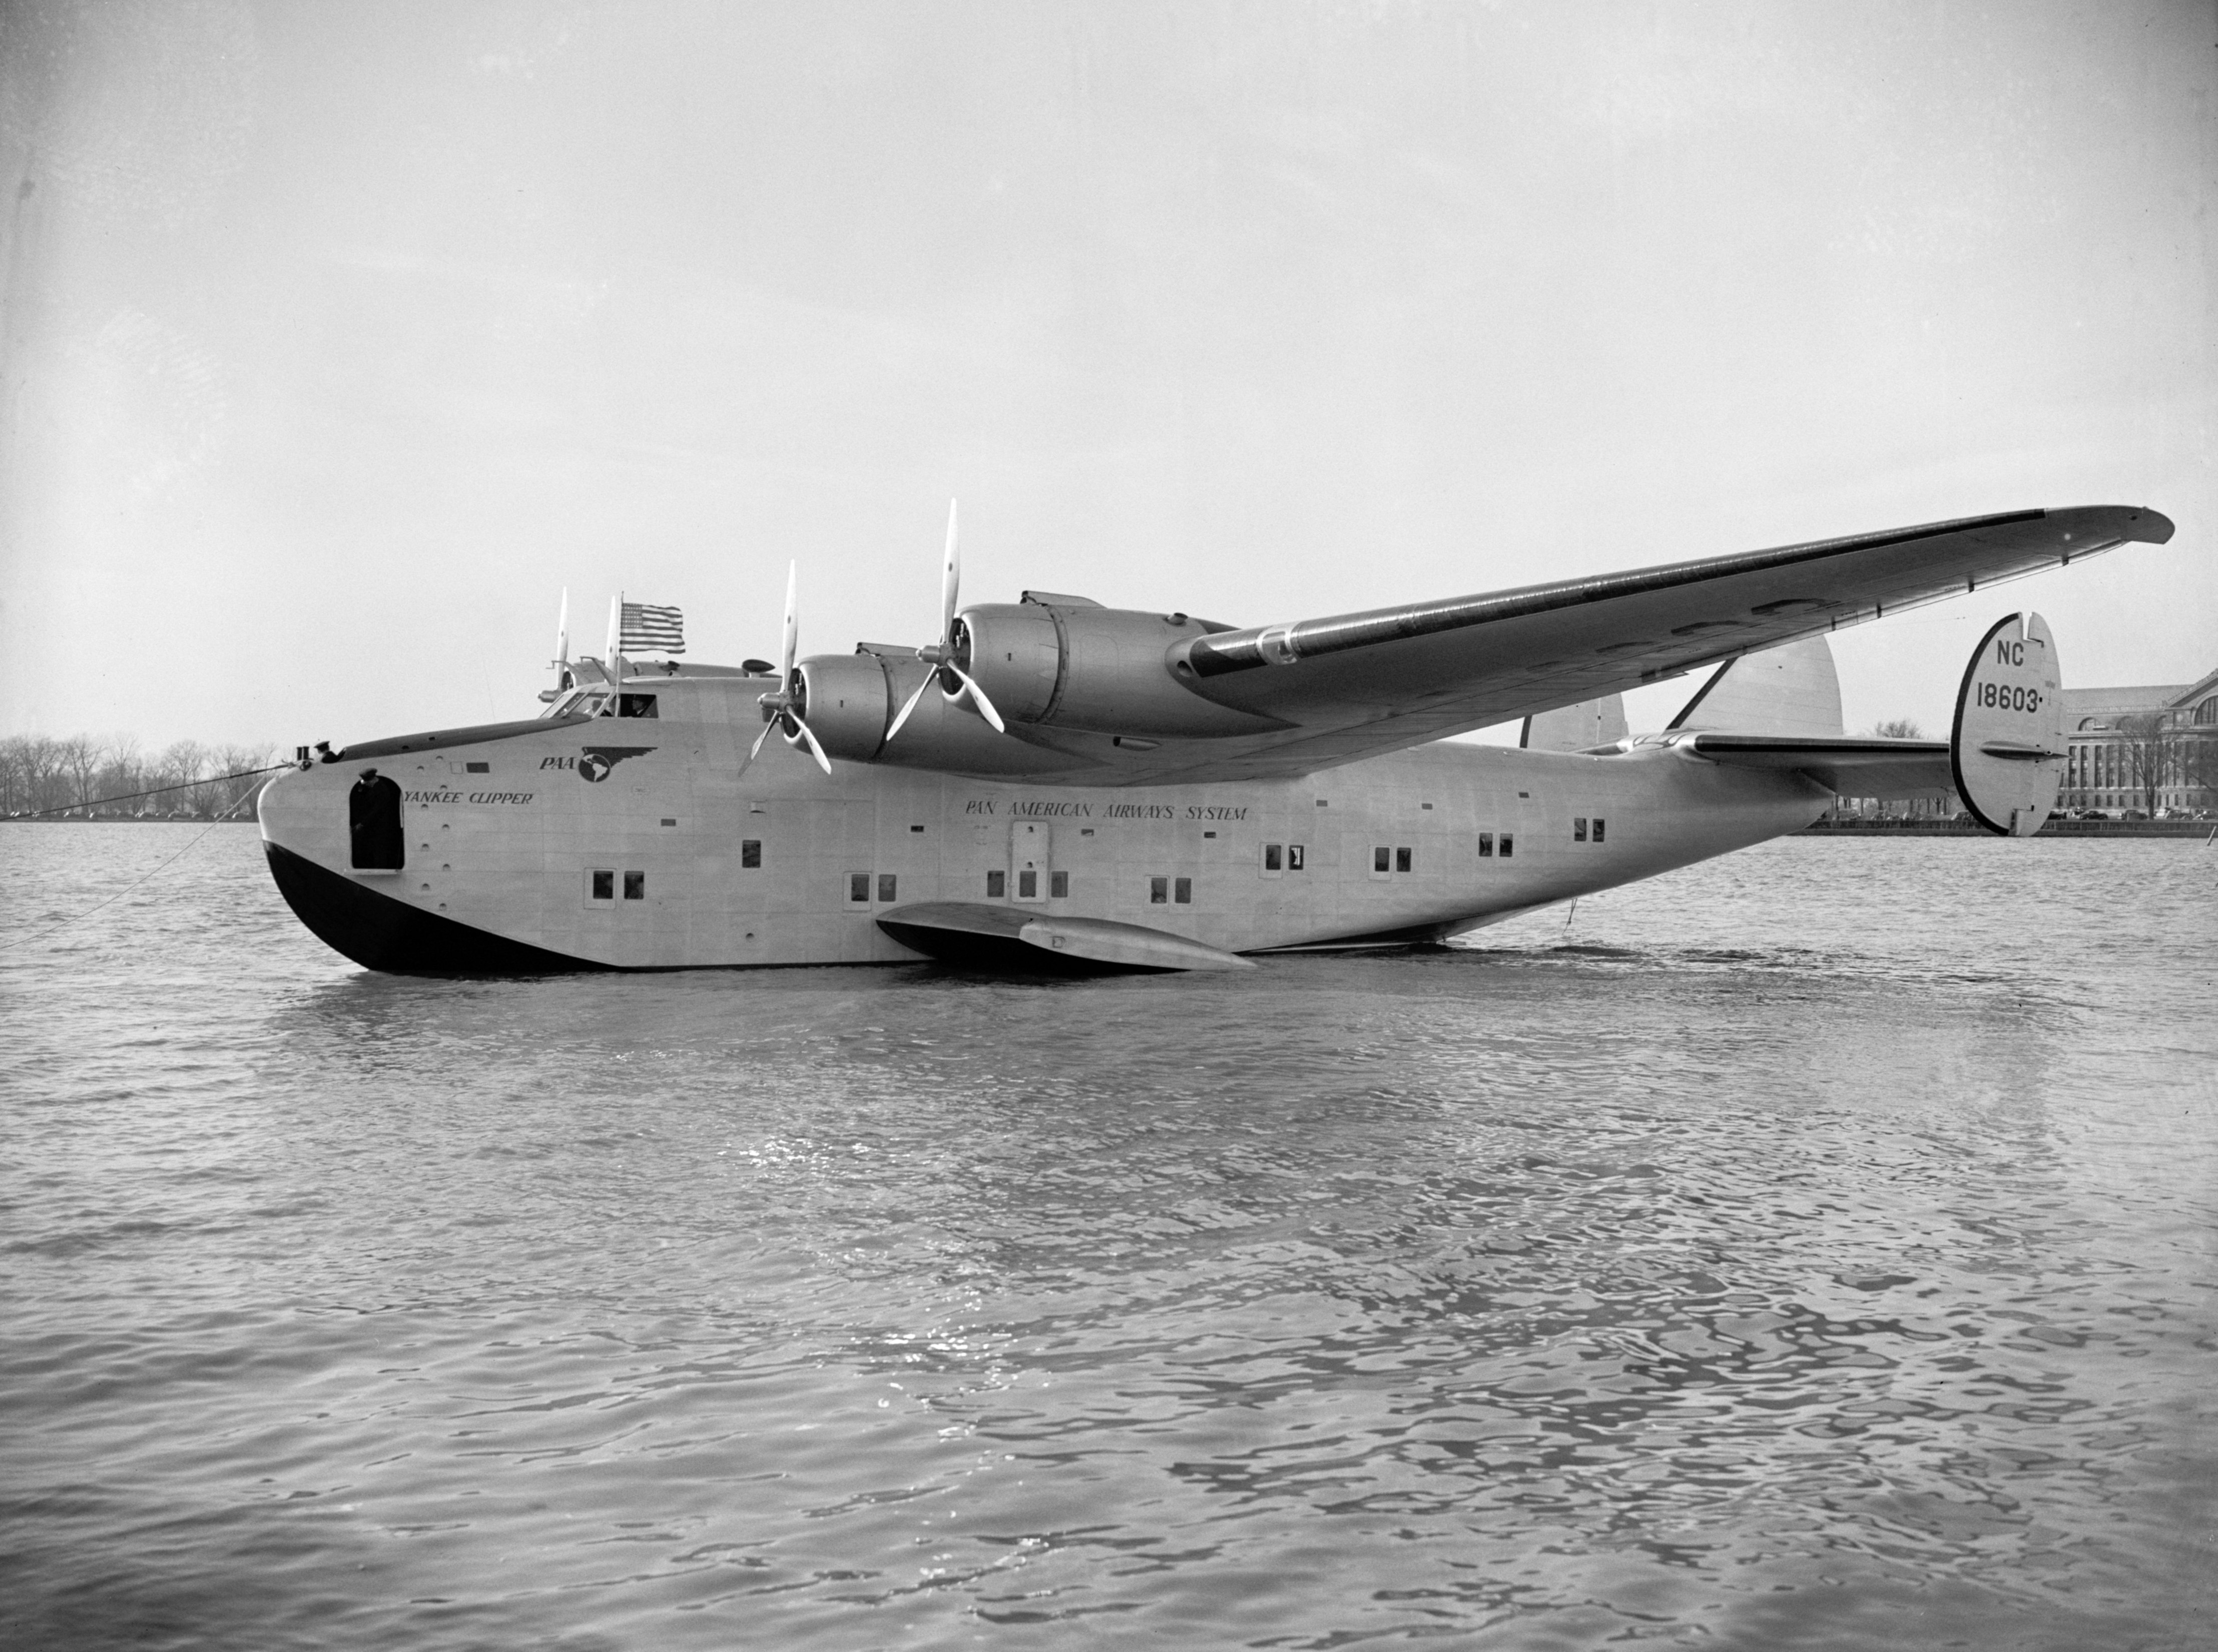
[[(2211, 4), (11, 4), (0, 734), (537, 712), (965, 599), (1262, 623), (1985, 510), (1945, 727), (2218, 665)], [(1664, 698), (1677, 698), (1666, 692)], [(1657, 725), (1635, 707), (1635, 723)]]

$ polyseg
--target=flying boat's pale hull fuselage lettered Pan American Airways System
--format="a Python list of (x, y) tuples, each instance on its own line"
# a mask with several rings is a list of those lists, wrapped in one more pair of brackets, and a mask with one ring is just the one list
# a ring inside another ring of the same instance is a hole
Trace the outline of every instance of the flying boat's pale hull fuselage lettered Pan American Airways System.
[[(444, 973), (914, 960), (876, 920), (916, 903), (1229, 954), (1428, 940), (1794, 832), (1828, 803), (1801, 776), (1668, 747), (1435, 743), (1295, 781), (1085, 787), (825, 776), (774, 738), (741, 776), (759, 727), (601, 716), (379, 741), (282, 774), (262, 829), (326, 942)], [(355, 865), (368, 769), (397, 789), (397, 867)]]

